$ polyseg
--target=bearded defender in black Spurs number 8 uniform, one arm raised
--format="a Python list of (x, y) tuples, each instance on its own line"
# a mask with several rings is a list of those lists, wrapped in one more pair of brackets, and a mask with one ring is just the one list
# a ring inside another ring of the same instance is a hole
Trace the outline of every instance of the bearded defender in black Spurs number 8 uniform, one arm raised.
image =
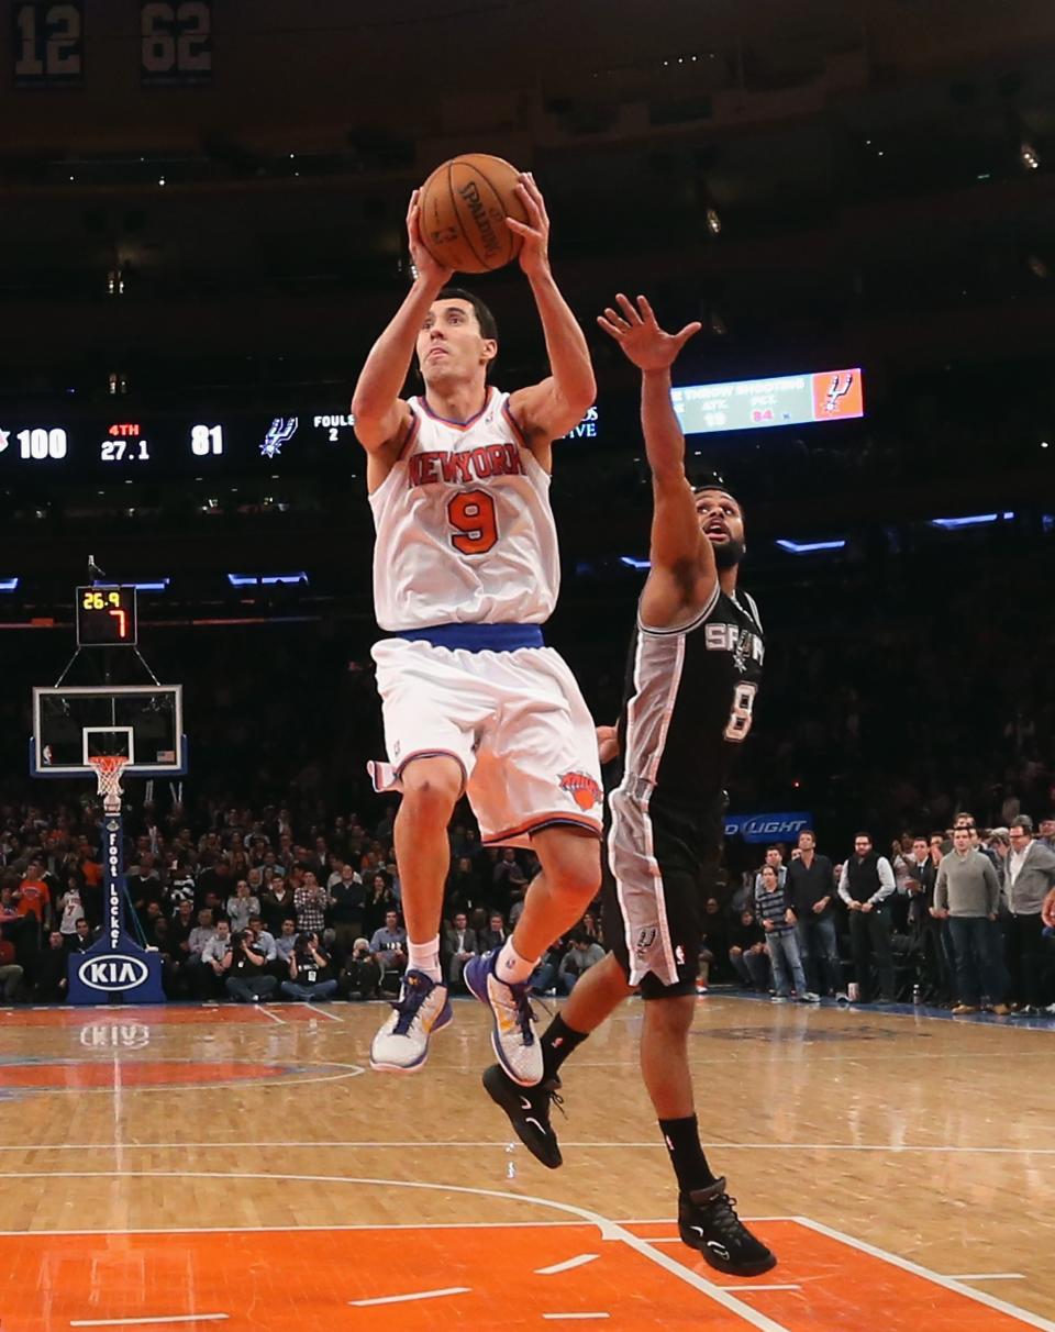
[[(643, 1006), (641, 1071), (678, 1179), (678, 1229), (711, 1267), (757, 1276), (777, 1261), (737, 1216), (699, 1143), (689, 1028), (703, 906), (722, 846), (730, 755), (751, 729), (762, 629), (737, 593), (743, 515), (723, 485), (691, 489), (670, 401), (670, 366), (699, 330), (665, 333), (643, 296), (598, 320), (641, 370), (641, 424), (653, 474), (651, 569), (638, 603), (618, 734), (605, 882), (613, 951), (579, 979), (542, 1036), (545, 1082), (514, 1088), (496, 1064), (484, 1086), (545, 1166), (561, 1164), (549, 1119), (563, 1060), (634, 990)], [(606, 755), (607, 757), (607, 755)]]

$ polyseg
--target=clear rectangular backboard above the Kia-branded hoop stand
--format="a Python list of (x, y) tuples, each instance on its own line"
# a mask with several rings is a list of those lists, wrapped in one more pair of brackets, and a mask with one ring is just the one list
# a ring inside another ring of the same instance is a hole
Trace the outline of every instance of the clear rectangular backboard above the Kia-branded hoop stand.
[(33, 690), (33, 777), (95, 777), (89, 759), (121, 754), (129, 775), (186, 771), (180, 685), (81, 685)]

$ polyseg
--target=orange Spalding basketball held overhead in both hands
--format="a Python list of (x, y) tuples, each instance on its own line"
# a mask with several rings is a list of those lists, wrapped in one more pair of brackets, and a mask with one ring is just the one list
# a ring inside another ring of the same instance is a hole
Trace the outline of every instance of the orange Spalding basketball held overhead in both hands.
[(452, 157), (421, 186), (421, 238), (433, 258), (460, 273), (489, 273), (520, 254), (506, 217), (528, 221), (517, 168), (488, 153)]

